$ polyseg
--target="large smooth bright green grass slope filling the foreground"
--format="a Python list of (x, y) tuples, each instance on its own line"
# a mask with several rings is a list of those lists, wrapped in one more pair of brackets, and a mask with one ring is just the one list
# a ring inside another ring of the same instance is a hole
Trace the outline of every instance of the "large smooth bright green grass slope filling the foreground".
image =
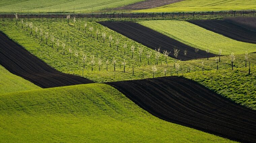
[(106, 84), (0, 95), (2, 142), (231, 142), (160, 120)]

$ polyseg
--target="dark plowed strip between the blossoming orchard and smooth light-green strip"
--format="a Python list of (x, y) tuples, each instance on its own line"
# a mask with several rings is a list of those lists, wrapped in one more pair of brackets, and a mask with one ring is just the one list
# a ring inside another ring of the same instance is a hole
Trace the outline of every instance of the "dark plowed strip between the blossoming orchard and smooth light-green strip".
[[(172, 58), (175, 58), (173, 55), (173, 48), (176, 47), (180, 50), (177, 59), (186, 60), (184, 56), (184, 50), (187, 49), (187, 60), (196, 59), (195, 48), (190, 47), (186, 44), (183, 44), (177, 40), (167, 37), (164, 34), (161, 34), (155, 30), (152, 30), (146, 26), (140, 25), (135, 22), (129, 21), (119, 21), (111, 22), (104, 21), (99, 22), (100, 24), (107, 26), (108, 28), (115, 30), (126, 37), (141, 43), (153, 50), (161, 47), (161, 51), (167, 50), (171, 51), (169, 55)], [(209, 57), (214, 57), (214, 54), (209, 54)], [(207, 53), (205, 51), (199, 50), (197, 53), (198, 58), (207, 58)]]

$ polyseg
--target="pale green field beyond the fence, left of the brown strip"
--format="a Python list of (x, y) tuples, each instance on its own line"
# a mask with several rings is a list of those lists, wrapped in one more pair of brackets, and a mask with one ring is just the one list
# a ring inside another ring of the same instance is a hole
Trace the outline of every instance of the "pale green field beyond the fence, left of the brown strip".
[(1, 0), (0, 12), (92, 12), (120, 7), (141, 0)]

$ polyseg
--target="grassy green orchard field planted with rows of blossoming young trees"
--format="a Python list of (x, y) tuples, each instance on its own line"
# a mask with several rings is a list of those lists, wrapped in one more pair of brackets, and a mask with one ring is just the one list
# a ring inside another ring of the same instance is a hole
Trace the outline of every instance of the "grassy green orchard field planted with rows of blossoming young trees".
[[(178, 21), (179, 22), (179, 21)], [(99, 40), (96, 40), (96, 33), (93, 32), (93, 37), (90, 37), (90, 31), (87, 31), (87, 33), (84, 33), (84, 29), (81, 28), (81, 31), (79, 29), (73, 28), (72, 25), (68, 25), (65, 21), (58, 21), (58, 22), (50, 22), (50, 28), (47, 28), (48, 22), (38, 22), (33, 21), (34, 26), (37, 24), (43, 27), (43, 29), (46, 29), (47, 31), (51, 31), (51, 27), (53, 27), (53, 31), (55, 32), (56, 36), (60, 38), (60, 40), (65, 41), (66, 40), (66, 55), (63, 55), (63, 50), (60, 47), (59, 52), (56, 51), (56, 45), (54, 45), (54, 49), (51, 48), (51, 42), (49, 41), (48, 45), (45, 44), (45, 39), (43, 39), (43, 42), (40, 42), (40, 38), (36, 39), (35, 35), (30, 35), (29, 31), (26, 32), (25, 27), (21, 29), (21, 25), (18, 25), (18, 27), (15, 25), (14, 21), (1, 21), (0, 24), (3, 25), (0, 29), (4, 31), (11, 39), (21, 44), (23, 47), (25, 47), (29, 52), (33, 53), (43, 61), (45, 61), (47, 64), (51, 65), (55, 69), (64, 72), (64, 73), (70, 73), (70, 74), (76, 74), (79, 76), (82, 76), (82, 69), (83, 69), (83, 63), (81, 59), (81, 55), (83, 53), (87, 54), (87, 61), (85, 63), (85, 69), (84, 69), (84, 76), (86, 78), (89, 78), (95, 82), (107, 82), (107, 81), (122, 81), (122, 80), (132, 80), (132, 79), (142, 79), (142, 72), (144, 75), (144, 78), (152, 78), (152, 66), (155, 64), (155, 57), (154, 54), (152, 54), (150, 58), (151, 65), (147, 65), (147, 58), (146, 58), (146, 50), (151, 50), (145, 46), (142, 46), (141, 44), (138, 44), (128, 38), (125, 38), (119, 33), (116, 33), (108, 28), (105, 28), (101, 26), (100, 24), (97, 24), (95, 22), (88, 22), (90, 26), (93, 26), (94, 28), (99, 28), (101, 31), (107, 31), (107, 35), (110, 33), (113, 35), (114, 39), (116, 37), (120, 38), (120, 47), (119, 51), (116, 50), (116, 44), (113, 43), (112, 47), (109, 47), (109, 43), (106, 42), (105, 44), (102, 43), (102, 38), (99, 37)], [(43, 24), (42, 24), (43, 23)], [(174, 22), (176, 23), (176, 21)], [(71, 23), (72, 24), (72, 23)], [(70, 32), (69, 32), (70, 31)], [(94, 30), (95, 31), (95, 30)], [(73, 32), (73, 34), (71, 34)], [(58, 34), (59, 33), (59, 34)], [(69, 35), (69, 38), (66, 36), (64, 38), (64, 33), (66, 35)], [(71, 37), (72, 36), (72, 42)], [(108, 41), (108, 39), (106, 39)], [(80, 43), (78, 45), (78, 42)], [(82, 43), (82, 44), (81, 44)], [(124, 55), (124, 49), (122, 48), (122, 45), (124, 43), (128, 43), (127, 53)], [(131, 50), (130, 46), (134, 44), (135, 54), (134, 59), (131, 58)], [(246, 43), (243, 43), (246, 44)], [(86, 45), (86, 49), (85, 49)], [(141, 62), (139, 62), (138, 57), (138, 47), (144, 48), (144, 53), (142, 54)], [(68, 48), (72, 47), (73, 53), (71, 54), (71, 60), (69, 59), (70, 55), (68, 53)], [(91, 49), (91, 50), (90, 50)], [(78, 57), (78, 64), (76, 64), (76, 58), (74, 57), (74, 51), (79, 50), (79, 57)], [(93, 52), (94, 51), (94, 52)], [(153, 50), (151, 50), (153, 51)], [(224, 52), (224, 50), (223, 50)], [(253, 102), (253, 99), (255, 98), (255, 93), (253, 92), (255, 90), (254, 84), (246, 84), (246, 81), (251, 79), (251, 83), (256, 83), (255, 78), (253, 78), (253, 75), (255, 75), (255, 67), (252, 68), (252, 75), (247, 76), (248, 67), (245, 68), (245, 57), (244, 54), (236, 54), (235, 52), (235, 62), (234, 62), (234, 70), (241, 70), (242, 72), (234, 72), (231, 70), (231, 62), (229, 55), (222, 56), (221, 57), (221, 63), (219, 63), (219, 71), (216, 70), (216, 63), (215, 63), (215, 57), (207, 59), (198, 59), (198, 60), (190, 60), (190, 61), (180, 61), (179, 64), (181, 65), (181, 69), (179, 69), (179, 74), (191, 78), (195, 81), (198, 81), (199, 83), (203, 84), (204, 86), (215, 90), (217, 93), (220, 93), (223, 96), (229, 97), (232, 100), (244, 104), (252, 109), (255, 109), (255, 102)], [(97, 56), (98, 53), (98, 56)], [(243, 53), (243, 52), (241, 52)], [(173, 53), (171, 53), (173, 54)], [(183, 53), (180, 53), (183, 54)], [(94, 64), (94, 70), (91, 71), (91, 55), (95, 56), (95, 64)], [(101, 57), (102, 55), (102, 57)], [(251, 53), (249, 54), (251, 63), (256, 63), (256, 54)], [(117, 66), (116, 71), (114, 71), (114, 65), (113, 63), (109, 63), (108, 65), (108, 71), (106, 71), (106, 63), (105, 60), (108, 58), (109, 62), (113, 57), (116, 57), (117, 59)], [(126, 72), (123, 72), (123, 66), (120, 68), (120, 64), (122, 63), (122, 59), (126, 58), (127, 65), (126, 65)], [(102, 65), (101, 65), (101, 71), (99, 71), (98, 66), (98, 59), (101, 59)], [(132, 62), (134, 61), (134, 74), (132, 75)], [(162, 65), (161, 62), (162, 61)], [(215, 82), (210, 82), (212, 79), (208, 78), (209, 75), (204, 75), (205, 73), (201, 73), (201, 62), (204, 62), (204, 70), (211, 70), (209, 72), (210, 75), (213, 76), (214, 79), (216, 79)], [(143, 66), (145, 65), (146, 66)], [(168, 65), (165, 64), (165, 58), (162, 57), (159, 59), (159, 63), (157, 65), (157, 72), (155, 74), (155, 77), (164, 76), (166, 70), (166, 76), (170, 75), (177, 75), (177, 71), (174, 68), (174, 60), (171, 58), (168, 58)], [(185, 74), (187, 73), (187, 68), (191, 66), (191, 75)], [(252, 64), (251, 64), (252, 66)], [(255, 66), (255, 65), (254, 65)], [(216, 75), (215, 75), (216, 74)], [(224, 79), (219, 78), (220, 74), (228, 74), (230, 76), (225, 76)], [(231, 75), (234, 75), (233, 76)], [(207, 81), (207, 82), (206, 82)], [(232, 87), (220, 87), (220, 85), (223, 84), (223, 82), (229, 83), (232, 85)], [(244, 81), (244, 82), (238, 82), (238, 81)], [(247, 87), (244, 87), (244, 86)], [(244, 90), (243, 88), (247, 89)], [(230, 88), (230, 90), (227, 90)], [(240, 89), (241, 88), (241, 89)], [(220, 89), (220, 90), (219, 90)], [(243, 93), (242, 93), (243, 92)], [(244, 96), (243, 94), (247, 95)]]

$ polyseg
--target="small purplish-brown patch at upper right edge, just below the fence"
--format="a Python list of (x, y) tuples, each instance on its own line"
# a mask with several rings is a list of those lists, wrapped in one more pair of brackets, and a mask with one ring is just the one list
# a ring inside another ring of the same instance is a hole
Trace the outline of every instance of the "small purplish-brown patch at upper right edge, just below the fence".
[(228, 17), (225, 18), (224, 21), (236, 24), (238, 26), (244, 27), (246, 29), (252, 30), (256, 32), (256, 17)]

